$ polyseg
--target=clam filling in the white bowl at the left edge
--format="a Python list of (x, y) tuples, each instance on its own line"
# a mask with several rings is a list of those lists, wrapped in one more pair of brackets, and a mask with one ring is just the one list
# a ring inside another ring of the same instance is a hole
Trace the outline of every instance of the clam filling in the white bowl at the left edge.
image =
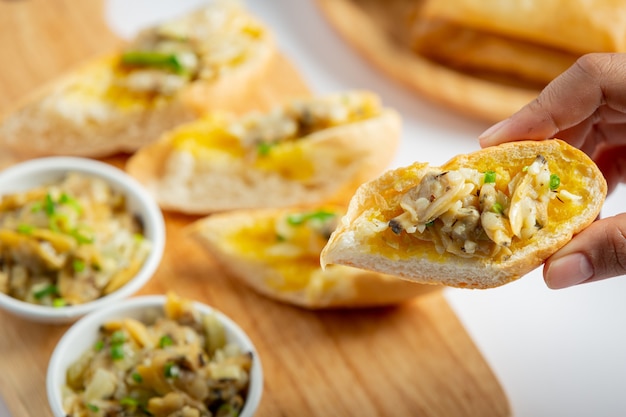
[(71, 172), (0, 200), (0, 291), (33, 304), (83, 304), (126, 284), (151, 250), (125, 197)]

